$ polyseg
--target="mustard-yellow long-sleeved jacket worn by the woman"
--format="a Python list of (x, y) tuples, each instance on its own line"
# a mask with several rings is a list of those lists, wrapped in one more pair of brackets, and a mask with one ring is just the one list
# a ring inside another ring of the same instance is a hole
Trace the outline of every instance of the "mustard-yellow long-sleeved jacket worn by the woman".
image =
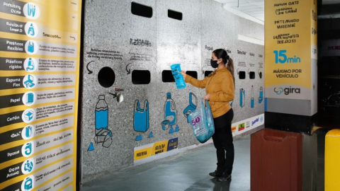
[(205, 93), (210, 94), (212, 117), (220, 117), (232, 108), (229, 101), (234, 100), (234, 79), (226, 67), (216, 69), (203, 80), (186, 75), (185, 81), (198, 88), (205, 88)]

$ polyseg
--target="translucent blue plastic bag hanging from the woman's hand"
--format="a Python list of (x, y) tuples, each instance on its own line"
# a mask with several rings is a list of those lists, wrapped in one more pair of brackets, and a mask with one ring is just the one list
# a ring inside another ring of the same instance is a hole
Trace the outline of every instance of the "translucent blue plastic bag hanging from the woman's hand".
[(188, 119), (193, 127), (193, 135), (200, 143), (205, 143), (215, 133), (214, 119), (208, 101), (202, 100), (200, 110), (192, 112)]

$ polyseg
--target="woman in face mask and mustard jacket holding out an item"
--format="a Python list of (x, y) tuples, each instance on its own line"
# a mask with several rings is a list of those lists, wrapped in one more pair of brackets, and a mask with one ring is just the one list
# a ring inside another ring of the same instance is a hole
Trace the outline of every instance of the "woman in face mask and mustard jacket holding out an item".
[[(234, 100), (234, 63), (225, 50), (212, 52), (210, 64), (215, 69), (208, 77), (197, 80), (181, 71), (186, 82), (198, 88), (205, 88), (206, 95), (214, 117), (215, 134), (212, 141), (216, 148), (217, 169), (209, 175), (224, 182), (232, 178), (234, 163), (234, 144), (232, 143), (232, 119), (234, 112), (229, 101)], [(217, 69), (216, 69), (217, 68)]]

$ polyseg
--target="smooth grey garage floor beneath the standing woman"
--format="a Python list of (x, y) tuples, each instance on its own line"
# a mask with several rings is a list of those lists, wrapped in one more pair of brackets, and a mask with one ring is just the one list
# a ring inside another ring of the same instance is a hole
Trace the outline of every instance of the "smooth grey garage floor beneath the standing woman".
[[(318, 142), (324, 141), (324, 135)], [(234, 141), (235, 160), (232, 180), (217, 182), (208, 173), (216, 168), (212, 144), (159, 161), (120, 170), (83, 185), (83, 191), (181, 191), (181, 190), (250, 190), (250, 136)], [(319, 146), (320, 148), (320, 146)], [(321, 145), (322, 148), (322, 145)], [(323, 150), (323, 148), (321, 149)], [(323, 189), (323, 156), (319, 149), (318, 191)]]

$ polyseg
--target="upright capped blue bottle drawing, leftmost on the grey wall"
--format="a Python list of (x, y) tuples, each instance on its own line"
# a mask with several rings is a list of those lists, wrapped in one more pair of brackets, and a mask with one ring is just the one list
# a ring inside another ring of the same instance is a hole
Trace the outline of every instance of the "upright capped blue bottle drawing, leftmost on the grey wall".
[(102, 129), (108, 129), (108, 104), (106, 103), (105, 96), (99, 96), (96, 105), (96, 135)]

